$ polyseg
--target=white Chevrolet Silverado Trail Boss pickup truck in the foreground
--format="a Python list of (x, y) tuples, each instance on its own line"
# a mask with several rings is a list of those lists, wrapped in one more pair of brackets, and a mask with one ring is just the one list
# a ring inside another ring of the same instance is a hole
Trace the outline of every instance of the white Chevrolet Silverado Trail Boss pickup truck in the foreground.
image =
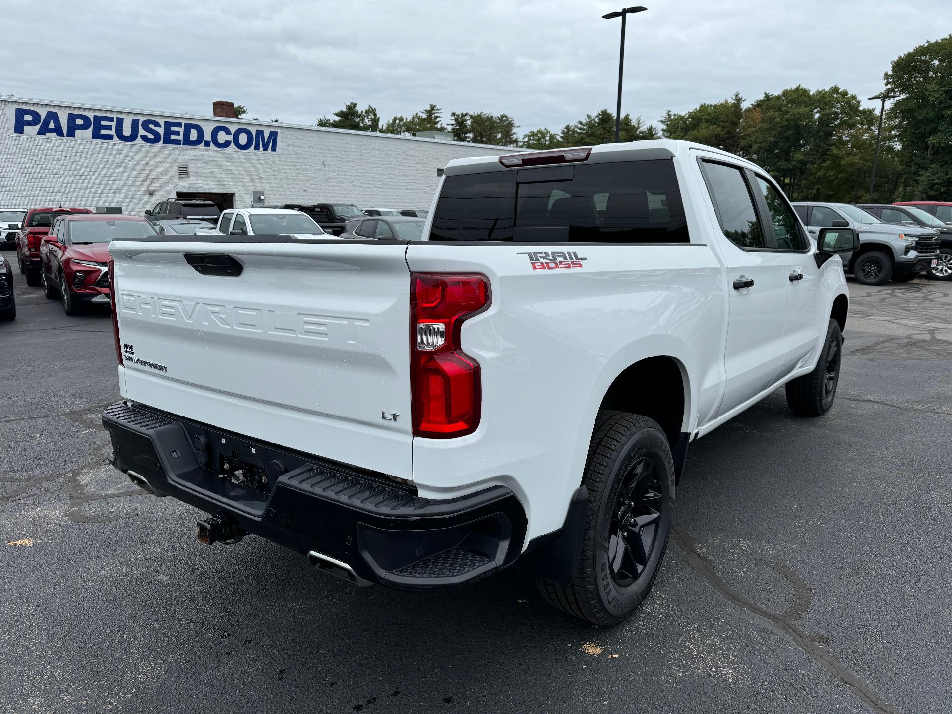
[(452, 161), (431, 208), (423, 242), (113, 241), (113, 463), (206, 543), (402, 588), (518, 561), (619, 623), (688, 443), (784, 385), (833, 404), (856, 232), (675, 141)]

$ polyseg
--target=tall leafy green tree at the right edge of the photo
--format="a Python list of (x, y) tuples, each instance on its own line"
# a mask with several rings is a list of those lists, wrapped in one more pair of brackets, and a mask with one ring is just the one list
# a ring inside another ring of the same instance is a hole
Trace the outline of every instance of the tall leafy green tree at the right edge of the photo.
[(889, 118), (902, 147), (902, 198), (952, 197), (952, 35), (898, 57), (883, 79), (900, 95)]

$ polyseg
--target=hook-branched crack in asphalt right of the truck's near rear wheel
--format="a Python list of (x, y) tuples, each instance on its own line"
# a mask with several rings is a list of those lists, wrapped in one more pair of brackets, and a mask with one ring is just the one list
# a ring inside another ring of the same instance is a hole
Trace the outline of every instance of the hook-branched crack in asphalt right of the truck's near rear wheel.
[(803, 580), (791, 568), (786, 565), (766, 564), (772, 570), (779, 573), (784, 580), (793, 585), (795, 596), (794, 602), (783, 614), (777, 614), (766, 609), (763, 605), (744, 597), (736, 589), (727, 585), (724, 578), (717, 571), (707, 556), (698, 550), (698, 542), (694, 536), (684, 530), (684, 527), (675, 525), (672, 528), (675, 543), (682, 549), (687, 564), (694, 572), (704, 578), (708, 584), (720, 592), (724, 597), (734, 605), (742, 607), (747, 612), (757, 615), (767, 621), (770, 627), (785, 635), (794, 645), (800, 647), (804, 653), (818, 664), (823, 665), (830, 674), (845, 684), (846, 688), (864, 704), (868, 705), (877, 714), (900, 714), (893, 704), (885, 701), (869, 684), (860, 677), (853, 674), (843, 664), (840, 663), (828, 650), (823, 648), (822, 641), (825, 638), (818, 638), (816, 635), (808, 635), (801, 627), (795, 623), (809, 609), (812, 596), (809, 586), (803, 583)]

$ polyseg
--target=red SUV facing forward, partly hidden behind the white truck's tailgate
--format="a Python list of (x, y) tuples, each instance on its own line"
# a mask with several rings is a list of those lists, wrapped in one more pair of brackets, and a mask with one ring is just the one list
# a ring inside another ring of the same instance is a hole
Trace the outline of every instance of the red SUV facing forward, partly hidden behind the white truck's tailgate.
[(57, 218), (40, 248), (43, 294), (60, 298), (68, 315), (87, 304), (109, 305), (109, 241), (158, 235), (138, 216), (113, 213)]

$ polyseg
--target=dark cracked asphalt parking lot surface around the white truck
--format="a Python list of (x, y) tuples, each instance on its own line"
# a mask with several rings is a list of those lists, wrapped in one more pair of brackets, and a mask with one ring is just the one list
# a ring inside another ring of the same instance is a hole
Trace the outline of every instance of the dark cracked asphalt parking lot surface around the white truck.
[[(11, 253), (5, 253), (11, 255)], [(837, 403), (783, 391), (691, 446), (640, 613), (597, 629), (526, 573), (359, 589), (105, 458), (109, 310), (16, 274), (0, 324), (0, 710), (952, 709), (952, 284), (851, 282)]]

